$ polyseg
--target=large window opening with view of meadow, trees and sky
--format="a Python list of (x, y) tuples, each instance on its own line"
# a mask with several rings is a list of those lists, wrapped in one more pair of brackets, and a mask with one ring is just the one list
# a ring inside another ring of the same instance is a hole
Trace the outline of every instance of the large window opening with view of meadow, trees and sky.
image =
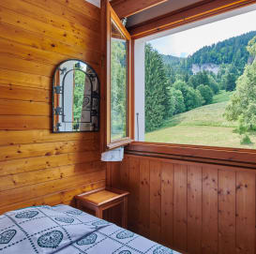
[(147, 41), (144, 53), (137, 140), (256, 149), (256, 11)]

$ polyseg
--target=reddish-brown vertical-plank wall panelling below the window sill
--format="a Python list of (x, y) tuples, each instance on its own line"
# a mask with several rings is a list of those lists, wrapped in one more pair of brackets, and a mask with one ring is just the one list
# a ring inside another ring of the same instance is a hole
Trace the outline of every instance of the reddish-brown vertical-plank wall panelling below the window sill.
[(126, 155), (108, 164), (130, 191), (128, 228), (188, 253), (255, 253), (255, 170)]

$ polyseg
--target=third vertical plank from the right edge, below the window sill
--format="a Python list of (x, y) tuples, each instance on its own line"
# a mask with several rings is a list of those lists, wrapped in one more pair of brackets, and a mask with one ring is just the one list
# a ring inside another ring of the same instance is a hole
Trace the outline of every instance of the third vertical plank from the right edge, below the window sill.
[(218, 253), (218, 170), (203, 167), (202, 253)]

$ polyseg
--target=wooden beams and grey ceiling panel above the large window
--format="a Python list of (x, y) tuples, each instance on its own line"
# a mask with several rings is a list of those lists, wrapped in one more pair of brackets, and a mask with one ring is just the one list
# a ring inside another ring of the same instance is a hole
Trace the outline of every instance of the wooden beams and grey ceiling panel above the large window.
[(256, 4), (256, 0), (113, 0), (111, 3), (119, 18), (128, 17), (131, 37), (139, 38)]

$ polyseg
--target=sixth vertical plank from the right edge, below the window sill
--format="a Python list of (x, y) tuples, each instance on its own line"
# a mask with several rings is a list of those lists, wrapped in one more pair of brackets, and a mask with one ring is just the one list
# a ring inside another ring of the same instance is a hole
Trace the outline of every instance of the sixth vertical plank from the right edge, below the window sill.
[(173, 163), (161, 163), (161, 241), (173, 247)]

